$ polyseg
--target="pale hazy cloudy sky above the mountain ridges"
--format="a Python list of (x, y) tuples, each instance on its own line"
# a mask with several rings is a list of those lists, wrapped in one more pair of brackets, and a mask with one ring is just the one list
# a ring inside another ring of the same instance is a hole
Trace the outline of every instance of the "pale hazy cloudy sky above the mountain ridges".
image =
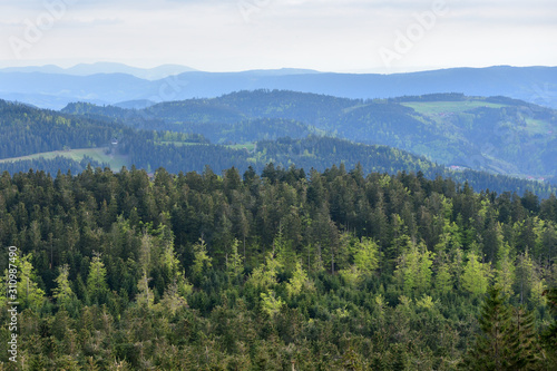
[(555, 0), (1, 0), (0, 66), (556, 66)]

